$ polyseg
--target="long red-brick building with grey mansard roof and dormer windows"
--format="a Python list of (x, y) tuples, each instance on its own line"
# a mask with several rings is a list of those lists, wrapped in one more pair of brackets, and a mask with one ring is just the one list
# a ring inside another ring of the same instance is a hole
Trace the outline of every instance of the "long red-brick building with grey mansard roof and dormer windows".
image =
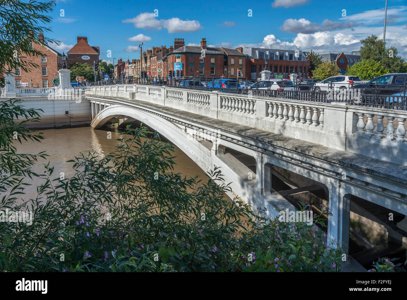
[(291, 73), (298, 74), (298, 78), (308, 78), (309, 61), (302, 51), (265, 49), (265, 48), (244, 48), (246, 55), (246, 74), (249, 80), (256, 80), (261, 77), (260, 72), (264, 70), (265, 60), (267, 60), (267, 70), (271, 71), (273, 77), (283, 75), (289, 78)]

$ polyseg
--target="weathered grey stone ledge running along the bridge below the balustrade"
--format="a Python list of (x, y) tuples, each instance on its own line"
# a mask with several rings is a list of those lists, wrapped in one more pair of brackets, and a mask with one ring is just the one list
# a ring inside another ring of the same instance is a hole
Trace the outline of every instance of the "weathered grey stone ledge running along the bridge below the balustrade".
[(352, 168), (360, 172), (387, 178), (390, 181), (407, 184), (407, 166), (392, 163), (388, 161), (381, 161), (375, 158), (364, 156), (361, 154), (337, 150), (326, 146), (321, 146), (316, 143), (294, 139), (278, 133), (268, 132), (244, 126), (221, 119), (214, 119), (196, 113), (191, 113), (185, 110), (179, 110), (160, 104), (151, 103), (142, 100), (129, 100), (128, 98), (113, 97), (113, 96), (86, 96), (90, 99), (103, 99), (103, 100), (119, 100), (129, 104), (137, 104), (145, 108), (158, 110), (159, 112), (181, 117), (194, 121), (198, 124), (203, 124), (212, 127), (214, 130), (220, 129), (227, 132), (241, 135), (246, 139), (250, 139), (255, 143), (266, 144), (272, 147), (291, 150), (298, 152), (302, 156), (309, 156), (313, 159), (320, 159), (327, 163)]

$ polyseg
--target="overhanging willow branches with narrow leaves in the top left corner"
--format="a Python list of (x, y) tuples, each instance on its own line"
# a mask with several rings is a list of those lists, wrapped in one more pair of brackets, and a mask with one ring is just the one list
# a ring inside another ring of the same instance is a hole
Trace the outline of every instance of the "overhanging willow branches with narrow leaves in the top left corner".
[[(45, 46), (53, 39), (39, 35), (50, 31), (42, 26), (51, 21), (51, 17), (44, 13), (53, 11), (55, 1), (0, 1), (0, 72), (8, 68), (11, 74), (16, 67), (27, 72), (32, 68), (39, 68), (38, 64), (28, 61), (31, 56), (45, 56), (44, 53), (33, 49), (31, 42)], [(7, 73), (7, 72), (6, 72)], [(4, 85), (4, 77), (0, 77), (0, 85)]]

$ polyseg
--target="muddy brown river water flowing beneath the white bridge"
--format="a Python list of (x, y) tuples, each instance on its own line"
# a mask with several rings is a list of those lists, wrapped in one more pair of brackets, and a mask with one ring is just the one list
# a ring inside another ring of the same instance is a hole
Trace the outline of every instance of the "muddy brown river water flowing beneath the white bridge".
[[(112, 133), (111, 139), (107, 139), (107, 132)], [(22, 144), (16, 143), (15, 146), (19, 153), (38, 154), (46, 151), (49, 156), (46, 159), (38, 159), (38, 162), (33, 166), (35, 172), (44, 174), (44, 164), (50, 162), (50, 167), (54, 167), (52, 179), (60, 176), (63, 172), (65, 178), (70, 178), (74, 175), (72, 170), (72, 162), (67, 162), (79, 156), (80, 152), (88, 154), (88, 152), (96, 151), (99, 155), (104, 156), (113, 152), (117, 146), (119, 132), (115, 128), (103, 128), (93, 130), (90, 127), (80, 128), (63, 128), (63, 129), (47, 129), (41, 130), (45, 137), (41, 142), (23, 141)], [(199, 178), (205, 180), (205, 172), (188, 157), (184, 152), (175, 147), (175, 163), (174, 173), (181, 173), (182, 176), (194, 177), (199, 175)], [(34, 177), (33, 180), (26, 179), (26, 183), (30, 183), (25, 190), (25, 195), (22, 194), (22, 200), (35, 198), (36, 186), (40, 185), (44, 179)]]

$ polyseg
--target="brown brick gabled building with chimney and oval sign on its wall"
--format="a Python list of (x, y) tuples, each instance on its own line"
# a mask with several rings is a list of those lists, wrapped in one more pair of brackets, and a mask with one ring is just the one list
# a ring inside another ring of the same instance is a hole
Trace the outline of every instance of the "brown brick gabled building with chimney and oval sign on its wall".
[(66, 62), (68, 68), (77, 62), (86, 63), (93, 67), (93, 62), (99, 62), (100, 49), (98, 46), (89, 46), (88, 37), (78, 36), (77, 44), (72, 47), (67, 53), (68, 60)]

